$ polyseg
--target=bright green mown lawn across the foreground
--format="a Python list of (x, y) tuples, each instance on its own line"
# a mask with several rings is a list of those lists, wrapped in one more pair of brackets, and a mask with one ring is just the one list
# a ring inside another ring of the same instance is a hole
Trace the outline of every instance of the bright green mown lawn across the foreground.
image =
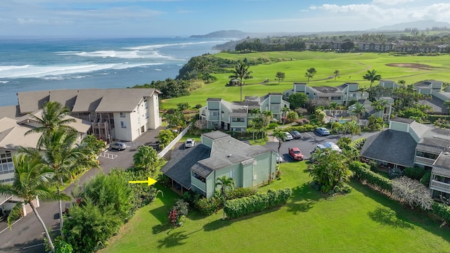
[(326, 198), (307, 185), (305, 167), (281, 164), (281, 180), (260, 189), (290, 186), (287, 205), (231, 221), (191, 212), (172, 228), (167, 210), (178, 196), (163, 189), (102, 252), (450, 252), (448, 226), (356, 182), (352, 193)]

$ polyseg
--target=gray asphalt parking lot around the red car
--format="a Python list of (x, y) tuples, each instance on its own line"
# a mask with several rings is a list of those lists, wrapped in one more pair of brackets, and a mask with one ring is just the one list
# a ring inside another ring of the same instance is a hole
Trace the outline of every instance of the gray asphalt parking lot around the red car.
[[(364, 132), (359, 134), (358, 136), (353, 136), (353, 140), (356, 140), (357, 138), (366, 138), (368, 136), (371, 136), (373, 134), (376, 134), (378, 132)], [(309, 159), (309, 153), (316, 148), (316, 145), (326, 143), (327, 141), (332, 141), (333, 143), (337, 143), (340, 135), (329, 135), (329, 136), (320, 136), (319, 134), (316, 134), (314, 131), (304, 132), (302, 133), (302, 138), (292, 141), (285, 141), (281, 143), (280, 148), (280, 155), (283, 157), (283, 160), (285, 162), (293, 162), (292, 157), (288, 155), (288, 148), (289, 147), (297, 147), (302, 150), (304, 160)], [(269, 148), (271, 150), (274, 150), (278, 152), (278, 141), (269, 141), (266, 143), (266, 148)]]

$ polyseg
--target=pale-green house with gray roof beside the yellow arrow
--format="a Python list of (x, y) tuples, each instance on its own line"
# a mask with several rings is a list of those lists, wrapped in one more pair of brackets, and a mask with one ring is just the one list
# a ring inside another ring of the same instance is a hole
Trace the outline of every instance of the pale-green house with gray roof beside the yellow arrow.
[(193, 148), (174, 150), (161, 171), (172, 186), (183, 193), (193, 190), (212, 197), (216, 179), (234, 179), (236, 188), (255, 187), (276, 176), (276, 153), (262, 145), (248, 145), (224, 134), (212, 131), (202, 134), (202, 141)]

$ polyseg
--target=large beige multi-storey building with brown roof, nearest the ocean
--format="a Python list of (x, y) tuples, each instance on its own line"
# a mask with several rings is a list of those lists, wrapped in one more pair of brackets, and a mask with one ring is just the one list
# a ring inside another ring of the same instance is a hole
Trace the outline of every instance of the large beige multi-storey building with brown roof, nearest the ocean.
[(35, 112), (46, 101), (68, 106), (73, 117), (91, 123), (103, 141), (134, 141), (161, 125), (156, 89), (77, 89), (18, 93), (20, 114)]

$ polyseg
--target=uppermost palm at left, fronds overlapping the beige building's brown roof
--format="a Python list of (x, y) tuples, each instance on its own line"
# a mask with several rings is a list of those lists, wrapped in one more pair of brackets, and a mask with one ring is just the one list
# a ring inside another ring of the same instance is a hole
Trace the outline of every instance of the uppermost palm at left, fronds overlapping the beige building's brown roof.
[(25, 136), (33, 133), (42, 133), (37, 143), (37, 148), (39, 149), (43, 145), (43, 136), (48, 135), (52, 131), (63, 129), (65, 131), (77, 132), (72, 126), (68, 126), (68, 124), (76, 122), (76, 120), (73, 118), (65, 119), (66, 116), (70, 115), (70, 109), (67, 106), (63, 107), (59, 102), (49, 101), (44, 103), (41, 117), (37, 117), (31, 112), (28, 114), (31, 115), (30, 119), (36, 121), (40, 126), (30, 129), (25, 133)]

